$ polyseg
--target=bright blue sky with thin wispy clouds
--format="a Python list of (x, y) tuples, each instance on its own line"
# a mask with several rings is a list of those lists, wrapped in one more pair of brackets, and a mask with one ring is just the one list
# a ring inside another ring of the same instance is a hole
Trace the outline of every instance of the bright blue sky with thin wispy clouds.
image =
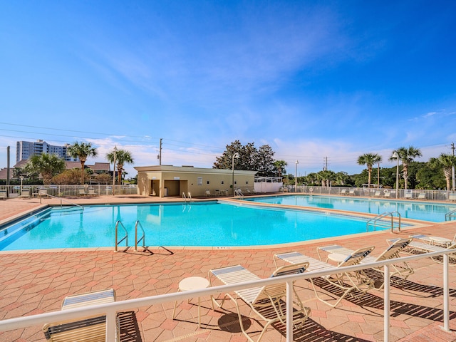
[[(234, 140), (298, 175), (456, 140), (454, 1), (0, 0), (0, 167), (16, 141), (212, 167)], [(129, 176), (135, 175), (132, 166)]]

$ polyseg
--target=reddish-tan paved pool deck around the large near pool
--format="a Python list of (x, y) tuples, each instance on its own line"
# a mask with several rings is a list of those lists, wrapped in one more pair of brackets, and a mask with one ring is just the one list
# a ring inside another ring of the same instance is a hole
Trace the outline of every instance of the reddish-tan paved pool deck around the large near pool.
[[(154, 197), (133, 195), (65, 199), (77, 204), (156, 202)], [(179, 198), (160, 202), (180, 201)], [(41, 199), (42, 204), (60, 204), (59, 199)], [(41, 205), (42, 205), (41, 204)], [(39, 199), (7, 199), (0, 202), (0, 222), (40, 206)], [(260, 277), (275, 269), (273, 255), (296, 250), (317, 257), (316, 247), (341, 244), (356, 249), (374, 245), (373, 255), (383, 252), (386, 239), (409, 234), (430, 234), (452, 239), (456, 222), (430, 224), (402, 233), (375, 232), (351, 237), (325, 239), (291, 246), (257, 249), (151, 248), (148, 252), (115, 253), (111, 250), (67, 252), (0, 252), (0, 319), (58, 311), (61, 300), (70, 294), (112, 287), (118, 301), (177, 291), (187, 276), (207, 277), (220, 266), (242, 264)], [(442, 266), (430, 259), (412, 263), (415, 274), (399, 287), (391, 288), (390, 341), (456, 341), (456, 270), (450, 268), (450, 328), (442, 331)], [(383, 291), (370, 291), (362, 301), (343, 300), (332, 309), (315, 298), (306, 281), (297, 283), (301, 299), (312, 313), (295, 341), (383, 341)], [(323, 289), (321, 292), (326, 293)], [(125, 341), (246, 341), (239, 331), (234, 306), (212, 311), (209, 298), (201, 299), (201, 328), (197, 324), (196, 299), (177, 306), (173, 303), (141, 307), (130, 313), (131, 330)], [(362, 304), (362, 305), (359, 305)], [(247, 306), (244, 314), (249, 315)], [(252, 319), (248, 331), (260, 331)], [(247, 323), (248, 325), (248, 323)], [(257, 337), (257, 336), (256, 336)], [(0, 333), (0, 341), (45, 341), (41, 326)], [(262, 341), (285, 341), (280, 327), (268, 330)]]

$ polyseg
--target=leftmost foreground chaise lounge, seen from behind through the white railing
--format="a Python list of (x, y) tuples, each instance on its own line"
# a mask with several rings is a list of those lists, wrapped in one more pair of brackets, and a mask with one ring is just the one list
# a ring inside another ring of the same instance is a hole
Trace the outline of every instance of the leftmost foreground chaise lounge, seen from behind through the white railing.
[[(87, 292), (63, 299), (62, 310), (105, 304), (113, 301), (115, 301), (115, 291), (113, 289)], [(89, 316), (79, 321), (70, 320), (47, 323), (43, 326), (43, 333), (46, 336), (46, 341), (104, 342), (106, 338), (106, 316)]]

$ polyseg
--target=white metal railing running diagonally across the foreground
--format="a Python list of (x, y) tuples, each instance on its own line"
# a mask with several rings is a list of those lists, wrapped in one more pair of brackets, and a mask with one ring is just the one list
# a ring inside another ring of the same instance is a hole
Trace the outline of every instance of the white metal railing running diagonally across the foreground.
[[(393, 260), (377, 261), (370, 264), (362, 264), (356, 266), (346, 266), (343, 268), (344, 271), (357, 271), (360, 269), (369, 269), (371, 267), (384, 267), (384, 299), (383, 299), (383, 335), (384, 341), (388, 342), (390, 338), (390, 265), (397, 264), (405, 261), (410, 262), (413, 260), (437, 257), (442, 255), (442, 311), (443, 311), (443, 326), (445, 331), (450, 331), (450, 279), (449, 279), (449, 257), (448, 254), (455, 253), (453, 251), (446, 252), (433, 252), (427, 254), (419, 254), (411, 257), (402, 257)], [(27, 328), (30, 326), (36, 326), (39, 324), (45, 324), (55, 321), (65, 321), (68, 319), (84, 318), (86, 316), (93, 315), (106, 315), (106, 341), (115, 341), (116, 333), (116, 314), (118, 311), (125, 311), (131, 309), (137, 309), (141, 306), (152, 306), (163, 303), (173, 303), (174, 301), (182, 301), (185, 299), (191, 299), (196, 297), (204, 296), (216, 296), (219, 294), (225, 294), (230, 291), (236, 291), (240, 289), (249, 289), (258, 286), (266, 286), (271, 284), (283, 284), (286, 282), (286, 341), (293, 341), (293, 327), (292, 327), (292, 313), (293, 313), (293, 296), (292, 286), (294, 281), (302, 281), (304, 279), (315, 278), (318, 276), (328, 276), (331, 274), (337, 274), (341, 269), (334, 267), (333, 269), (326, 269), (325, 271), (312, 271), (305, 272), (303, 274), (296, 274), (291, 276), (280, 276), (274, 278), (261, 279), (259, 281), (245, 281), (243, 283), (234, 285), (214, 286), (209, 289), (192, 290), (177, 292), (172, 294), (162, 294), (158, 296), (149, 296), (140, 299), (129, 299), (126, 301), (116, 301), (110, 304), (100, 304), (95, 306), (88, 306), (85, 308), (68, 309), (65, 311), (55, 311), (46, 314), (38, 314), (33, 316), (24, 316), (19, 318), (10, 318), (4, 321), (0, 321), (0, 331), (11, 331), (20, 328)], [(420, 269), (425, 271), (425, 269)], [(425, 279), (425, 277), (424, 277)], [(425, 300), (425, 299), (423, 299)], [(334, 309), (337, 310), (337, 309)]]

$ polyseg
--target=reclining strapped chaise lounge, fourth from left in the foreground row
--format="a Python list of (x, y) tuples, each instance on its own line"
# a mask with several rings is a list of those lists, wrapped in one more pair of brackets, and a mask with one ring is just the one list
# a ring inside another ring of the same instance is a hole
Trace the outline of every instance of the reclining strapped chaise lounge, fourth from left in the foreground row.
[[(371, 262), (376, 262), (376, 261), (383, 261), (383, 260), (390, 260), (390, 259), (395, 259), (399, 258), (400, 255), (399, 253), (403, 251), (405, 248), (408, 247), (408, 245), (412, 242), (413, 238), (405, 238), (405, 239), (397, 239), (393, 244), (390, 244), (390, 246), (385, 249), (385, 251), (380, 254), (378, 257), (373, 257), (371, 255), (368, 255), (366, 258), (364, 258), (361, 261), (361, 264), (368, 264)], [(325, 247), (318, 247), (317, 252), (318, 256), (320, 256), (320, 250), (328, 252), (329, 254), (342, 254), (342, 255), (350, 255), (353, 253), (352, 249), (348, 249), (345, 247), (338, 246), (337, 244), (333, 244), (331, 246), (325, 246)], [(321, 257), (320, 257), (321, 258)], [(408, 278), (408, 276), (412, 275), (414, 273), (413, 268), (410, 267), (406, 262), (401, 262), (400, 264), (391, 264), (392, 270), (390, 271), (390, 277), (391, 276), (400, 276), (404, 280)], [(383, 273), (383, 266), (381, 267), (375, 267), (375, 270), (380, 271)], [(378, 289), (383, 288), (384, 284), (382, 283), (381, 286), (378, 287)]]

